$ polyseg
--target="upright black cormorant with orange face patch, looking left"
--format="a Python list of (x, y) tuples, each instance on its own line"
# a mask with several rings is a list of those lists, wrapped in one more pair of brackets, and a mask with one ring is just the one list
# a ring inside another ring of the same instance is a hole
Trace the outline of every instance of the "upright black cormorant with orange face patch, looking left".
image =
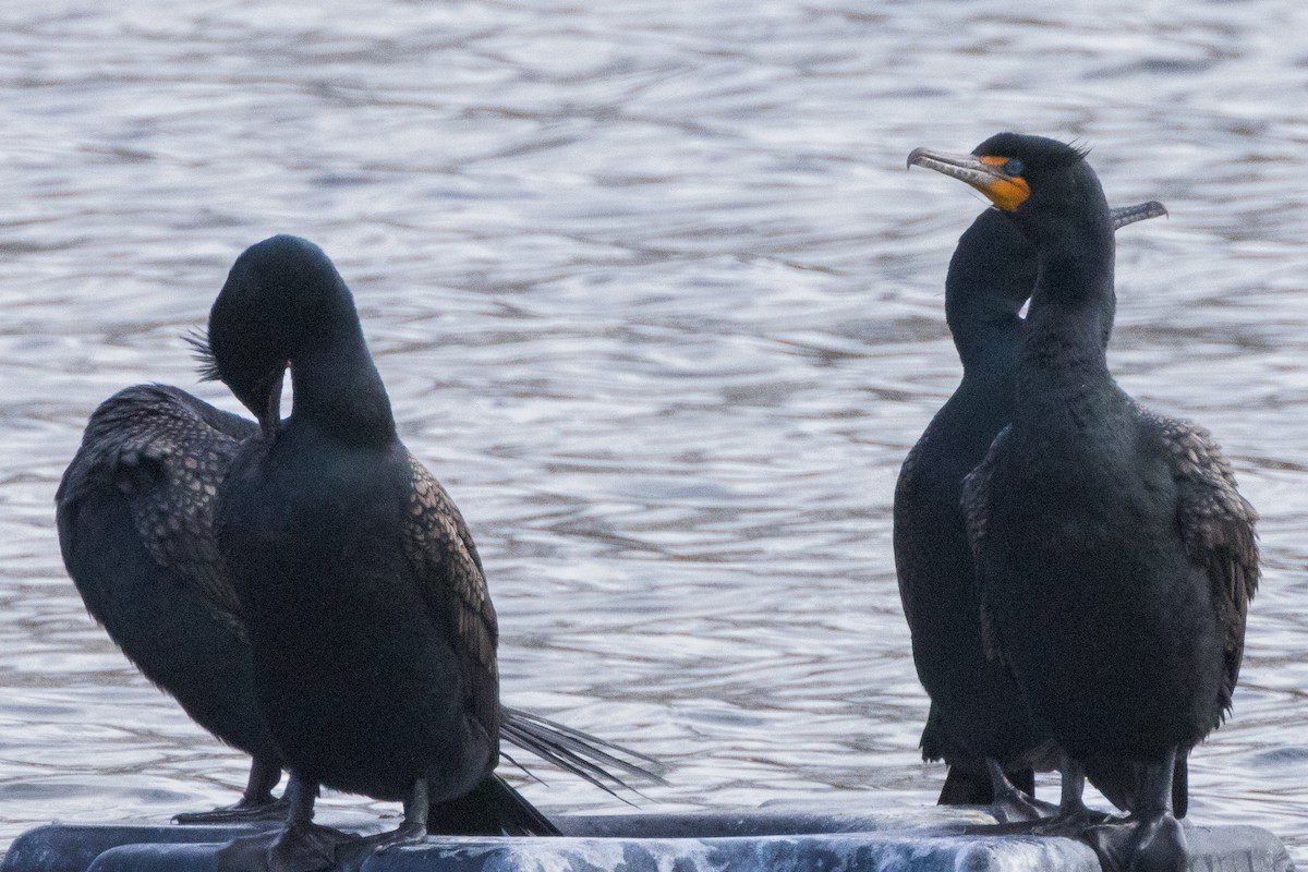
[[(1086, 153), (999, 133), (909, 163), (981, 191), (1036, 247), (1012, 422), (964, 482), (988, 650), (1065, 752), (1059, 814), (1109, 869), (1180, 871), (1176, 758), (1230, 710), (1258, 578), (1256, 512), (1209, 434), (1113, 380), (1113, 231)], [(1124, 822), (1084, 826), (1086, 761), (1138, 766)]]

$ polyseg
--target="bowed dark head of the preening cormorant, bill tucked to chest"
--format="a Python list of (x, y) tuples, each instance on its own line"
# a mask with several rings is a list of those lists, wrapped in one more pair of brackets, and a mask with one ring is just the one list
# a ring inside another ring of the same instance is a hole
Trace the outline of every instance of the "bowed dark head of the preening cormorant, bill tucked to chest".
[(209, 373), (271, 438), (281, 421), (286, 367), (315, 336), (340, 323), (357, 326), (358, 319), (349, 289), (322, 248), (300, 237), (264, 239), (237, 258), (209, 311)]

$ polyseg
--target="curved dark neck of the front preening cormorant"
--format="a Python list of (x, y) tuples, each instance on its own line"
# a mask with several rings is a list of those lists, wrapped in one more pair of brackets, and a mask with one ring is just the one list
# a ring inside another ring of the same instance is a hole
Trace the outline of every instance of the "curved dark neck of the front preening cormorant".
[(381, 446), (395, 438), (391, 401), (357, 318), (337, 320), (336, 329), (297, 354), (290, 383), (292, 420), (313, 421), (351, 444)]

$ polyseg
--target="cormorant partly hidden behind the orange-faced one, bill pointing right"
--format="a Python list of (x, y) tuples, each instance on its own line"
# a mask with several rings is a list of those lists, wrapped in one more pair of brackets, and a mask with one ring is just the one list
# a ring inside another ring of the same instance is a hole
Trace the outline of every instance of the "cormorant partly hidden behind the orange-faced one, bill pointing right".
[[(1160, 203), (1113, 210), (1113, 225), (1165, 214)], [(895, 567), (913, 637), (913, 662), (931, 709), (922, 757), (950, 769), (942, 805), (995, 803), (1003, 820), (1032, 809), (1002, 771), (1033, 795), (1046, 743), (1029, 723), (1012, 676), (985, 656), (976, 569), (959, 505), (963, 477), (1012, 417), (1020, 311), (1036, 285), (1036, 250), (997, 209), (959, 238), (944, 282), (944, 318), (963, 380), (904, 460), (895, 488)], [(1107, 337), (1105, 337), (1107, 339)], [(988, 771), (989, 770), (989, 771)]]

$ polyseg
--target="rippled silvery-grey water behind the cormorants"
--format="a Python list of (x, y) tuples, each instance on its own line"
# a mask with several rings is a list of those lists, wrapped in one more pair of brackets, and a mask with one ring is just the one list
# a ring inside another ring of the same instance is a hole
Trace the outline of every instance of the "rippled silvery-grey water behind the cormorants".
[(1266, 557), (1193, 817), (1308, 859), (1301, 4), (102, 7), (0, 7), (0, 846), (243, 783), (86, 617), (51, 499), (122, 386), (235, 408), (179, 335), (275, 231), (472, 524), (508, 701), (667, 760), (651, 812), (933, 801), (889, 507), (981, 203), (904, 157), (1018, 128), (1171, 208), (1121, 235), (1112, 361), (1218, 435)]

